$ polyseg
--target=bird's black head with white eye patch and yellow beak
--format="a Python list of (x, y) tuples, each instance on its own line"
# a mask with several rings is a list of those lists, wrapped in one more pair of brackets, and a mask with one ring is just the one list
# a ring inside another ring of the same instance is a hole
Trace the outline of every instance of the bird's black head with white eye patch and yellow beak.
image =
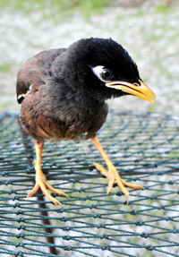
[(152, 90), (141, 81), (137, 65), (113, 39), (81, 39), (66, 51), (65, 78), (97, 99), (126, 94), (154, 102)]

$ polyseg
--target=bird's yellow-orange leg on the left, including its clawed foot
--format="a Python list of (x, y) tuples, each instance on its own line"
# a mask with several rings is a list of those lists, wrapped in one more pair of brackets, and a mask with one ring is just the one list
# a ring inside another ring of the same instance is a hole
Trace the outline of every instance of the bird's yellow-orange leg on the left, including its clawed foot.
[(62, 191), (60, 191), (59, 189), (55, 189), (51, 184), (47, 183), (46, 175), (43, 173), (41, 168), (41, 156), (42, 156), (42, 150), (43, 150), (43, 143), (36, 141), (35, 147), (36, 147), (36, 160), (34, 162), (35, 162), (35, 170), (36, 170), (36, 184), (28, 194), (28, 197), (32, 196), (34, 193), (37, 193), (38, 189), (41, 189), (41, 191), (47, 196), (47, 198), (50, 201), (54, 202), (55, 204), (61, 204), (61, 202), (57, 201), (55, 197), (53, 197), (47, 191), (47, 189), (59, 195), (63, 195), (63, 196), (67, 196), (67, 195)]

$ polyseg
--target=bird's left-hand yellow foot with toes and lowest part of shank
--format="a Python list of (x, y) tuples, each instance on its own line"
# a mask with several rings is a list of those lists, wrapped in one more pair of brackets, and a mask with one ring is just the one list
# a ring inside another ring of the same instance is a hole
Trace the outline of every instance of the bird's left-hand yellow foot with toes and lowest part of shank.
[[(36, 163), (36, 161), (35, 161)], [(49, 189), (53, 193), (57, 193), (59, 195), (68, 197), (68, 195), (64, 192), (62, 192), (59, 189), (54, 188), (51, 184), (47, 183), (47, 178), (45, 174), (42, 172), (40, 167), (36, 167), (36, 184), (34, 185), (33, 189), (28, 193), (28, 197), (34, 195), (35, 193), (38, 192), (38, 190), (41, 189), (41, 191), (47, 196), (47, 198), (52, 201), (54, 204), (61, 204), (60, 201), (57, 201), (55, 197), (53, 197), (47, 189)]]

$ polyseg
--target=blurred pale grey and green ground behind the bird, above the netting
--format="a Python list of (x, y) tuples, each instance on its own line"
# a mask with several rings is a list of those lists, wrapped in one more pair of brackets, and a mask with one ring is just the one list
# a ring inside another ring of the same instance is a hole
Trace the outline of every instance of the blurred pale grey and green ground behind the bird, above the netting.
[(178, 0), (1, 0), (0, 37), (0, 110), (20, 108), (16, 73), (30, 56), (81, 38), (111, 37), (128, 50), (158, 100), (126, 97), (109, 105), (179, 114)]

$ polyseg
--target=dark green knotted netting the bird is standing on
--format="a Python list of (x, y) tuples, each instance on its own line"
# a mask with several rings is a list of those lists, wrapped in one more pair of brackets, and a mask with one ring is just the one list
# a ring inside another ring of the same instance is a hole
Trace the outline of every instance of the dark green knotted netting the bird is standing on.
[(34, 183), (33, 141), (16, 115), (0, 116), (0, 256), (179, 256), (179, 117), (108, 115), (98, 135), (115, 167), (144, 191), (130, 202), (90, 163), (104, 164), (87, 142), (47, 142), (43, 170), (68, 193), (54, 206)]

